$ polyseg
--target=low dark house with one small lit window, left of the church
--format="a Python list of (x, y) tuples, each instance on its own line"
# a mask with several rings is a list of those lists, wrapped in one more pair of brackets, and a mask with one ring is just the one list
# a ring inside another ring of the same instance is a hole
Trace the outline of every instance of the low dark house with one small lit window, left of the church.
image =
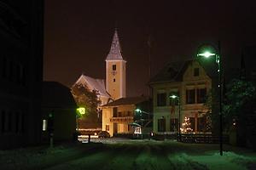
[[(42, 93), (42, 139), (49, 141), (49, 128), (54, 140), (72, 140), (76, 131), (76, 105), (70, 89), (60, 82), (44, 82)], [(49, 125), (49, 121), (52, 125)], [(51, 127), (50, 127), (51, 126)]]

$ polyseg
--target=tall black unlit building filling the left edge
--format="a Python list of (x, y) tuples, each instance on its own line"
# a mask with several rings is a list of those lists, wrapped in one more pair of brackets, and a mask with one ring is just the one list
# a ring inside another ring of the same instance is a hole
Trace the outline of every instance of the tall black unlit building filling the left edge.
[(0, 149), (38, 144), (43, 0), (0, 1)]

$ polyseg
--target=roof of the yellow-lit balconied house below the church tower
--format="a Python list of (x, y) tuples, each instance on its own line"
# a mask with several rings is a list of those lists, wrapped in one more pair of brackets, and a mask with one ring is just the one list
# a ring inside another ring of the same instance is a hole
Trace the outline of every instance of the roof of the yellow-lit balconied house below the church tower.
[(107, 105), (102, 105), (102, 107), (108, 107), (108, 106), (118, 106), (118, 105), (137, 105), (144, 101), (147, 101), (147, 97), (130, 97), (130, 98), (121, 98), (114, 100), (111, 103), (108, 103)]

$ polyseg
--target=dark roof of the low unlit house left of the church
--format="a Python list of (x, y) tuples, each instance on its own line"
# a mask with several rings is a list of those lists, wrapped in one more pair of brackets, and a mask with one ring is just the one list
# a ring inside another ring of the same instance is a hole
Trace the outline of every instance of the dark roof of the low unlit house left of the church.
[(77, 108), (70, 88), (60, 82), (43, 82), (41, 105), (43, 108)]

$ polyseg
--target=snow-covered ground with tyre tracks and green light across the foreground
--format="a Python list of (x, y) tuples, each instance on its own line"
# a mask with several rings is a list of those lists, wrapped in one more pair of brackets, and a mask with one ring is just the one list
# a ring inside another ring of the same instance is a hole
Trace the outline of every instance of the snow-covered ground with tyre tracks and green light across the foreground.
[(0, 150), (0, 169), (256, 169), (256, 152), (218, 144), (175, 141), (96, 139), (92, 144), (62, 144)]

